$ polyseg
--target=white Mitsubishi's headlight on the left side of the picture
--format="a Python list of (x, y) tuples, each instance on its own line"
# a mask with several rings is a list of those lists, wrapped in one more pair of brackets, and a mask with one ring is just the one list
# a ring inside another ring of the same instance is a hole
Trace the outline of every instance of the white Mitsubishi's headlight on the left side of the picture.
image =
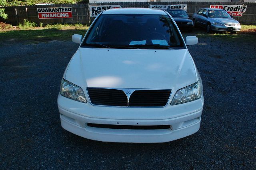
[(83, 89), (64, 79), (61, 80), (60, 94), (64, 97), (71, 98), (79, 102), (87, 102)]

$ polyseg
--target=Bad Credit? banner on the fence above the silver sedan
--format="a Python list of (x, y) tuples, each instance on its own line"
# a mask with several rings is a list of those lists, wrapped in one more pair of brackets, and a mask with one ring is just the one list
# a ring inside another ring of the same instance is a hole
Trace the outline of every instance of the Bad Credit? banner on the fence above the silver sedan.
[(210, 8), (223, 9), (232, 16), (242, 16), (247, 8), (247, 5), (210, 5)]

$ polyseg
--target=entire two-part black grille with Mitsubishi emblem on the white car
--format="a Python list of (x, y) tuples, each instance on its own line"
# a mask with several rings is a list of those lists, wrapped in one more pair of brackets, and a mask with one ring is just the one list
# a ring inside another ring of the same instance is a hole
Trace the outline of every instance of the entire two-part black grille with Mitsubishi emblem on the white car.
[(172, 92), (172, 90), (120, 90), (108, 88), (87, 88), (87, 90), (90, 101), (94, 105), (125, 107), (164, 107)]

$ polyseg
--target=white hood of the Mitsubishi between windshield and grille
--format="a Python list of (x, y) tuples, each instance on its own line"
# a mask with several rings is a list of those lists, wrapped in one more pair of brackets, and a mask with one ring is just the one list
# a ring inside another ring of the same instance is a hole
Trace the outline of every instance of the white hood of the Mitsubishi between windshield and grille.
[(64, 78), (82, 88), (180, 89), (196, 82), (188, 50), (79, 48)]

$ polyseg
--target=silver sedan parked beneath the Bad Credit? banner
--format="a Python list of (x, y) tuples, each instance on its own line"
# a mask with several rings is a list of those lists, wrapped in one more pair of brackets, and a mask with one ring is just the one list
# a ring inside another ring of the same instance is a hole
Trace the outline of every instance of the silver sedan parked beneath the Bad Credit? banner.
[(207, 32), (228, 31), (236, 33), (240, 31), (240, 23), (232, 18), (228, 12), (217, 8), (202, 8), (192, 16), (194, 26), (206, 28)]

